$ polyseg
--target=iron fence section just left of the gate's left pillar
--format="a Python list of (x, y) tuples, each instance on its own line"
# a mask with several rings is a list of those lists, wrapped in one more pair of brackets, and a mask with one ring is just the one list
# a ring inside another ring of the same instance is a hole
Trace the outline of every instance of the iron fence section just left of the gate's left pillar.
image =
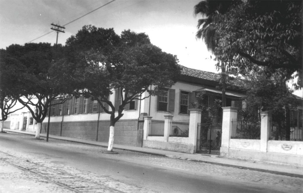
[(188, 137), (189, 120), (171, 121), (170, 137)]

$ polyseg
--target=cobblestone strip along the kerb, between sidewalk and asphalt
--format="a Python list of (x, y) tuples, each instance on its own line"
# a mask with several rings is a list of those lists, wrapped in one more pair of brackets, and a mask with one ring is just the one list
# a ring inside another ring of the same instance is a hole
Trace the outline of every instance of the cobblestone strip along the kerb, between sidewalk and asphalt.
[[(82, 149), (85, 152), (96, 153), (105, 148), (78, 144), (74, 142), (66, 143), (70, 148)], [(195, 175), (212, 175), (218, 177), (228, 177), (240, 181), (257, 182), (264, 185), (272, 185), (275, 187), (281, 187), (288, 192), (303, 192), (303, 179), (297, 177), (290, 177), (285, 175), (271, 174), (261, 171), (252, 171), (240, 168), (233, 168), (227, 166), (213, 165), (208, 163), (186, 161), (175, 158), (168, 158), (162, 156), (149, 155), (139, 152), (127, 151), (127, 150), (115, 150), (118, 154), (102, 156), (111, 159), (125, 160), (135, 163), (148, 163), (153, 167), (165, 167), (171, 169), (177, 169), (185, 172), (190, 172)]]

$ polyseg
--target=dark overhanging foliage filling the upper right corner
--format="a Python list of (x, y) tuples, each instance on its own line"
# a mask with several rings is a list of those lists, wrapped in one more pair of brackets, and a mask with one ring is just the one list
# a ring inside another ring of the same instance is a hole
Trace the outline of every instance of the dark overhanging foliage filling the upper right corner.
[(286, 80), (297, 72), (295, 86), (302, 87), (301, 1), (203, 1), (195, 13), (207, 17), (197, 37), (231, 72), (262, 67)]

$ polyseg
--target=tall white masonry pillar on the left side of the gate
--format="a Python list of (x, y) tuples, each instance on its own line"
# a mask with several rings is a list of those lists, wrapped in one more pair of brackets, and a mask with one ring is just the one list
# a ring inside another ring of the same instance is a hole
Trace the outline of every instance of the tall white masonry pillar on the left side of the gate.
[(201, 109), (189, 109), (188, 146), (190, 153), (197, 151), (198, 123), (201, 122)]

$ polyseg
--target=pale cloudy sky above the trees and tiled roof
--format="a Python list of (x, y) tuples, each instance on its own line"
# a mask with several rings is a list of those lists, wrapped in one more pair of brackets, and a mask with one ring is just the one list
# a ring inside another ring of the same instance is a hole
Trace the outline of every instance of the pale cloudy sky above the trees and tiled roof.
[[(208, 72), (217, 72), (205, 44), (195, 38), (197, 21), (194, 6), (200, 0), (0, 0), (0, 48), (32, 42), (55, 44), (51, 23), (65, 27), (58, 43), (65, 45), (84, 25), (144, 32), (151, 43), (164, 52), (177, 55), (179, 64)], [(108, 5), (105, 5), (109, 3)], [(74, 21), (92, 10), (98, 10)], [(71, 22), (71, 23), (69, 23)], [(69, 23), (69, 24), (68, 24)], [(68, 25), (65, 25), (68, 24)], [(213, 57), (212, 57), (213, 58)], [(295, 94), (302, 97), (301, 91)]]

